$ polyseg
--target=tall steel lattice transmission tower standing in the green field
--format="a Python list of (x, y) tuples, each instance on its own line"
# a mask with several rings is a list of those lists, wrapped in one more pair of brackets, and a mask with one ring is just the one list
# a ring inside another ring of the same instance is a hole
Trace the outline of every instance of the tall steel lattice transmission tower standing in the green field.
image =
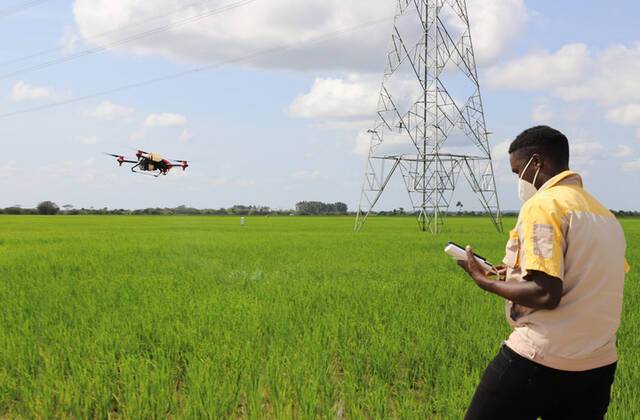
[(440, 232), (462, 174), (502, 231), (466, 1), (396, 1), (355, 229), (399, 172), (421, 230)]

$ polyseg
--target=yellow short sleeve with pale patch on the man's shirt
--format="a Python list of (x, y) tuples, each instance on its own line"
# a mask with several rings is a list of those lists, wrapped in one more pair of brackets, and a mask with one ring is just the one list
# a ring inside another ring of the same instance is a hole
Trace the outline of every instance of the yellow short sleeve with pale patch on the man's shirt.
[(561, 210), (549, 204), (533, 202), (523, 206), (521, 266), (527, 271), (542, 271), (564, 280), (566, 232)]

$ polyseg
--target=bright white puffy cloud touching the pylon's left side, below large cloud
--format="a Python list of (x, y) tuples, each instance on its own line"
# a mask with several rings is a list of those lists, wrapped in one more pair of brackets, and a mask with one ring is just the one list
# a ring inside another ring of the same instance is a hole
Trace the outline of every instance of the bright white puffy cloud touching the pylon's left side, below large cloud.
[(318, 78), (308, 93), (293, 100), (287, 112), (298, 118), (372, 118), (379, 91), (379, 81), (362, 75), (353, 74), (346, 80)]

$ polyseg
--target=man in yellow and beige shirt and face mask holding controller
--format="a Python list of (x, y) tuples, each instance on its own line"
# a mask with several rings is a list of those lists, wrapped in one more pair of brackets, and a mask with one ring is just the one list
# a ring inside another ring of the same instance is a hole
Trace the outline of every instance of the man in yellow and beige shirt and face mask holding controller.
[(562, 133), (530, 128), (509, 156), (525, 203), (504, 265), (486, 273), (471, 247), (460, 265), (482, 289), (507, 299), (513, 331), (484, 372), (466, 419), (602, 419), (629, 271), (624, 233), (569, 170)]

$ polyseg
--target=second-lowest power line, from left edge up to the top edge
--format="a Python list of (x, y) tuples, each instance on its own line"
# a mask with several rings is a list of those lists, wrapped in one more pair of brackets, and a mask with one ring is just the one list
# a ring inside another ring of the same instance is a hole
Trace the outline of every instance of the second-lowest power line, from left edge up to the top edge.
[(174, 28), (177, 28), (177, 27), (180, 27), (180, 26), (184, 26), (184, 25), (187, 25), (187, 24), (190, 24), (190, 23), (193, 23), (193, 22), (197, 22), (199, 20), (206, 19), (206, 18), (211, 17), (211, 16), (219, 15), (219, 14), (231, 11), (231, 10), (235, 10), (235, 9), (240, 8), (240, 7), (246, 6), (247, 4), (254, 3), (256, 1), (258, 1), (258, 0), (241, 0), (241, 1), (238, 1), (236, 3), (231, 3), (231, 4), (228, 4), (226, 6), (217, 8), (217, 9), (209, 9), (207, 11), (198, 13), (198, 14), (196, 14), (194, 16), (189, 16), (187, 18), (181, 19), (177, 23), (170, 23), (170, 24), (167, 24), (167, 25), (159, 26), (159, 27), (156, 27), (156, 28), (153, 28), (153, 29), (150, 29), (150, 30), (147, 30), (147, 31), (144, 31), (144, 32), (141, 32), (141, 33), (137, 33), (137, 34), (134, 34), (132, 36), (120, 39), (118, 41), (112, 42), (112, 43), (104, 45), (104, 46), (87, 48), (87, 49), (84, 49), (82, 51), (78, 51), (77, 53), (74, 53), (74, 54), (70, 54), (70, 55), (67, 55), (67, 56), (64, 56), (64, 57), (60, 57), (60, 58), (55, 58), (53, 60), (45, 61), (43, 63), (36, 64), (36, 65), (33, 65), (33, 66), (23, 67), (21, 69), (18, 69), (18, 70), (9, 72), (9, 73), (4, 73), (4, 74), (0, 75), (0, 80), (9, 79), (11, 77), (14, 77), (14, 76), (17, 76), (17, 75), (20, 75), (20, 74), (23, 74), (23, 73), (31, 73), (31, 72), (36, 71), (36, 70), (41, 70), (41, 69), (44, 69), (44, 68), (47, 68), (47, 67), (54, 66), (56, 64), (61, 64), (61, 63), (66, 63), (66, 62), (69, 62), (69, 61), (77, 60), (78, 58), (87, 57), (87, 56), (92, 55), (92, 54), (101, 53), (101, 52), (107, 51), (107, 50), (109, 50), (109, 49), (111, 49), (113, 47), (117, 47), (117, 46), (124, 45), (124, 44), (130, 43), (130, 42), (133, 42), (133, 41), (137, 41), (137, 40), (140, 40), (140, 39), (143, 39), (143, 38), (147, 38), (149, 36), (158, 35), (158, 34), (161, 34), (163, 32), (168, 32), (171, 29), (174, 29)]

